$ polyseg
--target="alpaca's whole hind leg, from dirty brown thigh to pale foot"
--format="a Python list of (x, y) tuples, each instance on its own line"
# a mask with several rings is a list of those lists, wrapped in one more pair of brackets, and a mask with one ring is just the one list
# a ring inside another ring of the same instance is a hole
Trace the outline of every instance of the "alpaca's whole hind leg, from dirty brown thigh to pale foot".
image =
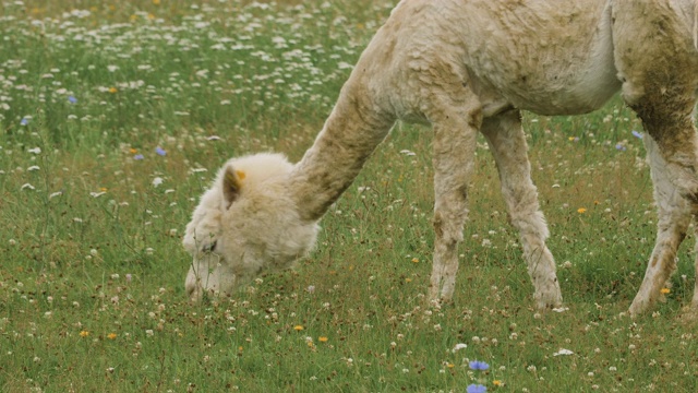
[(676, 248), (690, 216), (698, 213), (698, 138), (694, 124), (698, 57), (693, 17), (688, 21), (672, 2), (616, 1), (613, 19), (614, 57), (623, 81), (623, 98), (647, 131), (645, 144), (659, 207), (654, 251), (629, 310), (637, 314), (659, 297), (675, 267)]

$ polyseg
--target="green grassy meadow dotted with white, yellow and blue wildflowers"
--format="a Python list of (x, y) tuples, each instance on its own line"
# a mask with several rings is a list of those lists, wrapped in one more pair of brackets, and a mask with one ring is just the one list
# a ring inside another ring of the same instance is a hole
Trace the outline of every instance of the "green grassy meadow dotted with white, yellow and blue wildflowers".
[(217, 168), (298, 160), (395, 2), (0, 1), (0, 391), (698, 389), (693, 234), (626, 314), (657, 218), (619, 98), (525, 117), (561, 312), (532, 308), (484, 140), (454, 302), (425, 300), (431, 131), (402, 123), (310, 258), (190, 305), (181, 235)]

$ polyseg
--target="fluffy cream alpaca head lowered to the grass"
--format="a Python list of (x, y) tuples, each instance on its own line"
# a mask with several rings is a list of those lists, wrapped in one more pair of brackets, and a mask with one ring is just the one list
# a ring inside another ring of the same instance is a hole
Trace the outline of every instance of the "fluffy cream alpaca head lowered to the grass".
[(204, 293), (230, 295), (261, 272), (290, 267), (313, 248), (318, 226), (298, 214), (292, 169), (279, 154), (224, 165), (186, 225), (183, 245), (193, 262), (185, 287), (192, 301)]

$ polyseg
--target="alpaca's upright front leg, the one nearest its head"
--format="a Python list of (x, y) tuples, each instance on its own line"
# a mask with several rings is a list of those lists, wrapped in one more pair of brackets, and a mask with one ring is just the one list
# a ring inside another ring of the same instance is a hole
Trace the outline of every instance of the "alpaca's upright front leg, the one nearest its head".
[[(442, 106), (443, 108), (443, 106)], [(468, 216), (466, 199), (481, 122), (477, 109), (432, 116), (434, 124), (434, 262), (429, 298), (453, 298), (458, 243)]]

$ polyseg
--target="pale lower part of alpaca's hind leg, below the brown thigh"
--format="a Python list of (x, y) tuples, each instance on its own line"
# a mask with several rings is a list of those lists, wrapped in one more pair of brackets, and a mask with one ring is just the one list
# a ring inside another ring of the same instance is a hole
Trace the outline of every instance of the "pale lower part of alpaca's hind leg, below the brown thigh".
[(645, 135), (643, 140), (658, 209), (657, 243), (647, 265), (642, 285), (630, 306), (631, 314), (643, 312), (660, 297), (666, 279), (676, 269), (676, 250), (686, 237), (686, 230), (693, 218), (690, 204), (671, 181), (666, 163), (657, 142), (650, 135)]

